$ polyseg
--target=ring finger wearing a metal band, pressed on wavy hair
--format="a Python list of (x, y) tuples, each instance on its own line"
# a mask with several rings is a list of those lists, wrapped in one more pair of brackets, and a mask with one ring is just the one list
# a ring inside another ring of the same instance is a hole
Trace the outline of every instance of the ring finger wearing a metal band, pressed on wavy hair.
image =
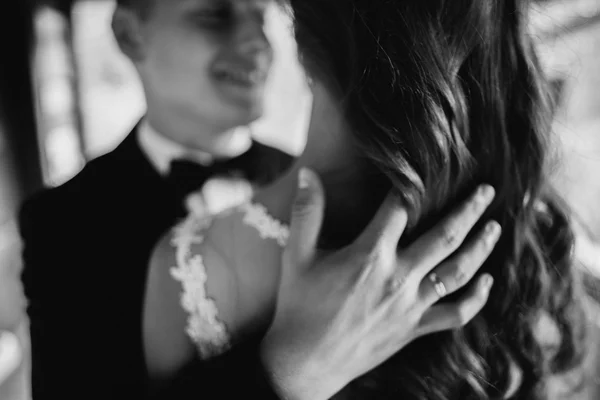
[(419, 287), (423, 306), (429, 308), (440, 297), (454, 293), (465, 286), (489, 257), (501, 232), (500, 224), (495, 221), (488, 223), (463, 250), (428, 274)]

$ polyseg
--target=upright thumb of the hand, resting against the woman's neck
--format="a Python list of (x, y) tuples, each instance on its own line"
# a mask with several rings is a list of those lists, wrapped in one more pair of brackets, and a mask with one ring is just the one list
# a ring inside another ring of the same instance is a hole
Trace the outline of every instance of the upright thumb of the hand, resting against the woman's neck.
[(301, 169), (286, 246), (295, 268), (309, 264), (314, 256), (324, 209), (325, 194), (319, 177), (308, 169)]

